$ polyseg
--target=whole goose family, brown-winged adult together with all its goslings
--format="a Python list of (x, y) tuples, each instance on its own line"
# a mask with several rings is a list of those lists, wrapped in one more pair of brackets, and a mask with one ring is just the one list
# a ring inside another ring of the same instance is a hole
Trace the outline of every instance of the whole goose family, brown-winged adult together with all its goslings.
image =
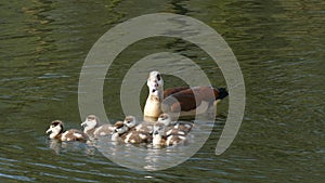
[(144, 106), (144, 119), (138, 122), (134, 116), (127, 116), (114, 125), (101, 125), (95, 115), (89, 115), (81, 122), (82, 131), (70, 129), (65, 131), (61, 120), (51, 122), (46, 131), (50, 139), (60, 141), (94, 140), (110, 136), (114, 142), (130, 144), (153, 144), (155, 147), (172, 146), (186, 142), (193, 122), (173, 121), (174, 116), (188, 116), (210, 113), (217, 103), (227, 96), (225, 89), (212, 87), (179, 87), (164, 90), (164, 80), (159, 71), (151, 71), (147, 78), (150, 94)]

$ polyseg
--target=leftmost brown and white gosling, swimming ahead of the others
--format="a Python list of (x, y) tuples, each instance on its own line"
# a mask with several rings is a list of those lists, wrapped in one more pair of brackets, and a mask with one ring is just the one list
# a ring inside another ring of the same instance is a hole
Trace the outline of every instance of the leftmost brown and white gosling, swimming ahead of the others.
[(60, 141), (81, 141), (86, 142), (88, 136), (79, 130), (70, 129), (63, 130), (63, 122), (61, 120), (54, 120), (51, 122), (50, 128), (46, 131), (50, 135), (50, 139), (57, 139)]

